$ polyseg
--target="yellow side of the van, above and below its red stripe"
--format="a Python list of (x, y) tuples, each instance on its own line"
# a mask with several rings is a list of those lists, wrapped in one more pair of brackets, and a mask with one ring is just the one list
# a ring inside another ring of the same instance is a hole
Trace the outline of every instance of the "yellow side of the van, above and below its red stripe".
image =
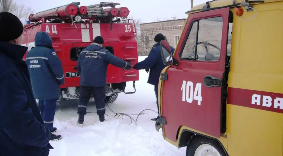
[[(254, 9), (234, 14), (228, 87), (283, 93), (283, 2)], [(228, 104), (226, 133), (229, 156), (282, 156), (281, 113)]]

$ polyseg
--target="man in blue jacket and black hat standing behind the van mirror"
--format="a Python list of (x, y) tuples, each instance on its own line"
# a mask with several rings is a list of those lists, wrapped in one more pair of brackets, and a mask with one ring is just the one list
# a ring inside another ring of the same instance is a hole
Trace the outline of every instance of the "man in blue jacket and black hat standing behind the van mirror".
[[(134, 69), (140, 70), (140, 69), (146, 69), (148, 72), (149, 70), (149, 76), (147, 83), (154, 85), (154, 91), (156, 96), (156, 104), (157, 104), (157, 110), (159, 114), (159, 108), (158, 108), (158, 82), (159, 82), (159, 76), (161, 71), (166, 67), (166, 65), (163, 64), (161, 52), (160, 52), (160, 41), (165, 40), (165, 37), (160, 33), (156, 34), (154, 41), (156, 42), (155, 45), (153, 45), (153, 48), (149, 52), (149, 55), (145, 60), (136, 63), (134, 65)], [(172, 55), (175, 51), (175, 49), (170, 46)], [(151, 120), (156, 121), (159, 118), (157, 116), (156, 118), (153, 118)]]

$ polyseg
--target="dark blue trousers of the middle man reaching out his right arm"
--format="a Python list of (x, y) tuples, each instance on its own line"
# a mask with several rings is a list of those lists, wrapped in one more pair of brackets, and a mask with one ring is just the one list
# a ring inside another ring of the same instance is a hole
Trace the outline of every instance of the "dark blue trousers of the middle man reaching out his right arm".
[(105, 87), (80, 87), (80, 99), (78, 105), (78, 114), (85, 115), (87, 110), (87, 103), (89, 102), (90, 96), (93, 95), (97, 114), (105, 114)]

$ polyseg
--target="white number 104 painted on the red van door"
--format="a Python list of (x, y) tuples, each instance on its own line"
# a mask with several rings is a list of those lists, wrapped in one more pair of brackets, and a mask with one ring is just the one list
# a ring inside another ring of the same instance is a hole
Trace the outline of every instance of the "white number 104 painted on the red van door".
[(182, 101), (192, 103), (193, 100), (198, 101), (198, 105), (200, 106), (202, 97), (201, 97), (201, 83), (196, 84), (196, 88), (194, 89), (194, 83), (191, 81), (183, 81), (182, 87)]

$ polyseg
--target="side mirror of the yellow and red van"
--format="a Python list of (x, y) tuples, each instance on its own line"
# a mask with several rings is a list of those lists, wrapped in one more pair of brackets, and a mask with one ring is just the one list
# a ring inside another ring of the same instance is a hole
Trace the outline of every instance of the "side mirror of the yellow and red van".
[(160, 41), (160, 51), (161, 51), (161, 57), (164, 65), (170, 65), (173, 63), (173, 56), (171, 52), (170, 45), (168, 41), (162, 40)]

